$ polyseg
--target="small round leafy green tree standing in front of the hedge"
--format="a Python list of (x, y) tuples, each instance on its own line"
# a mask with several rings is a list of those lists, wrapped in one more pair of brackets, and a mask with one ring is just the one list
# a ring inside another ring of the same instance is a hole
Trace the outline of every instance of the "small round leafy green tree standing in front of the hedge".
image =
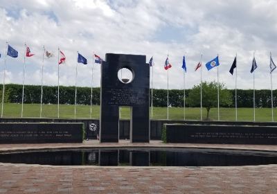
[[(220, 106), (230, 106), (232, 104), (231, 92), (224, 87), (224, 84), (219, 83), (218, 85), (220, 89)], [(200, 84), (191, 89), (187, 100), (190, 107), (200, 106)], [(206, 120), (208, 120), (210, 109), (217, 107), (217, 82), (202, 82), (202, 107), (206, 107)]]

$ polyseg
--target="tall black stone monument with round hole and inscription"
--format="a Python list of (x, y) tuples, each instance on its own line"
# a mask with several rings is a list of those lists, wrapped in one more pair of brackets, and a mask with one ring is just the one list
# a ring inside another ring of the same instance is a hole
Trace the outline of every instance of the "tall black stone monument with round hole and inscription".
[[(132, 80), (118, 79), (120, 69), (132, 71)], [(101, 66), (100, 142), (118, 142), (119, 107), (131, 107), (131, 142), (149, 142), (149, 78), (145, 55), (106, 54)]]

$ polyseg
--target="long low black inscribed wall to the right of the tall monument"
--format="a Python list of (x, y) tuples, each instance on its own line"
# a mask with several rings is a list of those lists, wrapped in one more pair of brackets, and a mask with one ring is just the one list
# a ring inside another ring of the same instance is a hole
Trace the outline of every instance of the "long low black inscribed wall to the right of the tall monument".
[(166, 143), (277, 145), (277, 127), (165, 124), (162, 139)]

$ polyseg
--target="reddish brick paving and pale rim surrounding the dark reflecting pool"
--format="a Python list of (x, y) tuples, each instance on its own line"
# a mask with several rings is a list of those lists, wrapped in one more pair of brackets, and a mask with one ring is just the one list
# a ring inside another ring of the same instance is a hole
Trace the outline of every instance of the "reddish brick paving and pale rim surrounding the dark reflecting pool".
[[(19, 148), (98, 147), (127, 142), (0, 145)], [(145, 146), (144, 143), (136, 145)], [(149, 145), (149, 144), (147, 144)], [(151, 146), (161, 146), (153, 141)], [(174, 146), (174, 145), (167, 145)], [(178, 147), (277, 150), (276, 145), (176, 144)], [(0, 163), (0, 193), (277, 193), (277, 165), (240, 167), (91, 167)]]

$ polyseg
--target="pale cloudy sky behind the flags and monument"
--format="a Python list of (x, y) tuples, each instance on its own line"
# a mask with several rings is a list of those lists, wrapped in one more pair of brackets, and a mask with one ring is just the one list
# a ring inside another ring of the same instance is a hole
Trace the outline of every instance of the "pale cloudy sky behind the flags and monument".
[[(250, 73), (253, 53), (258, 68), (255, 88), (270, 89), (269, 52), (277, 64), (277, 1), (275, 0), (0, 0), (0, 80), (3, 82), (6, 42), (19, 51), (6, 58), (6, 83), (23, 81), (26, 43), (35, 55), (26, 58), (25, 84), (40, 85), (43, 46), (55, 55), (44, 60), (44, 85), (57, 85), (57, 48), (66, 55), (60, 65), (60, 85), (75, 85), (77, 52), (88, 60), (78, 65), (77, 86), (100, 86), (100, 64), (96, 53), (153, 56), (153, 87), (186, 88), (200, 82), (195, 66), (203, 63), (202, 80), (217, 81), (217, 68), (204, 64), (219, 55), (219, 81), (235, 88), (235, 73), (229, 69), (237, 53), (238, 89), (253, 89)], [(163, 69), (168, 55), (172, 68)], [(152, 72), (152, 70), (151, 70)], [(167, 74), (168, 73), (168, 74)], [(124, 75), (123, 75), (124, 76)], [(272, 73), (277, 89), (277, 70)]]

